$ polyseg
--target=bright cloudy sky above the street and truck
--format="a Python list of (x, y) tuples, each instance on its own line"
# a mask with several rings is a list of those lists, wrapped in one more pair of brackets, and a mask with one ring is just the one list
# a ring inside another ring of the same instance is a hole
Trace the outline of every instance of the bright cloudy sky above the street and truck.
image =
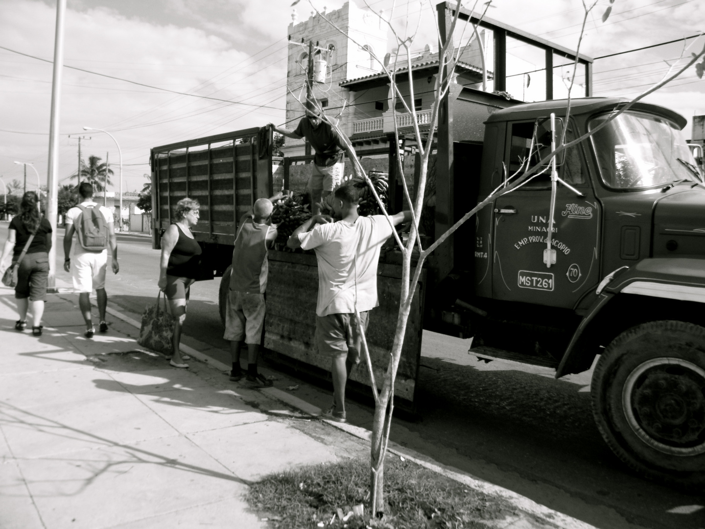
[[(331, 11), (341, 0), (312, 0)], [(356, 0), (353, 0), (356, 1)], [(369, 0), (388, 12), (391, 0)], [(149, 172), (149, 148), (253, 126), (284, 121), (287, 27), (291, 0), (68, 0), (66, 66), (152, 85), (142, 87), (70, 68), (63, 70), (59, 179), (82, 157), (109, 152), (117, 176), (118, 152), (101, 133), (113, 133), (123, 151), (125, 190), (140, 190)], [(403, 30), (423, 21), (414, 49), (436, 49), (431, 13), (435, 2), (397, 1), (393, 23)], [(362, 5), (362, 1), (358, 2)], [(464, 5), (472, 8), (472, 2)], [(697, 35), (705, 30), (702, 0), (615, 0), (605, 23), (608, 0), (600, 0), (584, 35), (582, 53), (600, 57), (619, 51)], [(401, 6), (401, 7), (399, 7)], [(575, 49), (582, 20), (580, 0), (494, 0), (488, 16)], [(299, 20), (312, 11), (308, 0), (295, 8)], [(408, 15), (407, 15), (408, 13)], [(22, 178), (32, 162), (42, 184), (47, 181), (51, 61), (54, 54), (56, 4), (44, 0), (0, 0), (0, 176)], [(690, 39), (699, 51), (705, 37)], [(594, 63), (594, 95), (633, 97), (661, 78), (678, 59), (683, 44), (621, 54)], [(226, 99), (175, 95), (166, 90)], [(705, 114), (705, 80), (694, 69), (649, 101), (687, 118)], [(687, 137), (689, 137), (689, 126)], [(71, 137), (69, 137), (71, 135)], [(36, 176), (27, 174), (28, 188)], [(114, 178), (117, 184), (117, 178)], [(117, 188), (117, 186), (114, 186)]]

